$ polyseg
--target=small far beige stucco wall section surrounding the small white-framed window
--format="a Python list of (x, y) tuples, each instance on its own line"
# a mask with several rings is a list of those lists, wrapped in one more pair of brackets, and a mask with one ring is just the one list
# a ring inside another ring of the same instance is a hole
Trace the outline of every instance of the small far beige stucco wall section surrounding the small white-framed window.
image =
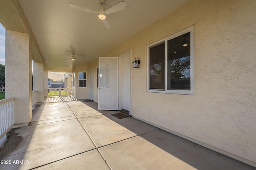
[[(76, 87), (73, 87), (73, 96), (77, 99), (88, 99), (89, 98), (89, 70), (87, 65), (77, 65), (73, 68), (73, 73), (75, 72)], [(78, 87), (78, 72), (86, 72), (86, 88)]]

